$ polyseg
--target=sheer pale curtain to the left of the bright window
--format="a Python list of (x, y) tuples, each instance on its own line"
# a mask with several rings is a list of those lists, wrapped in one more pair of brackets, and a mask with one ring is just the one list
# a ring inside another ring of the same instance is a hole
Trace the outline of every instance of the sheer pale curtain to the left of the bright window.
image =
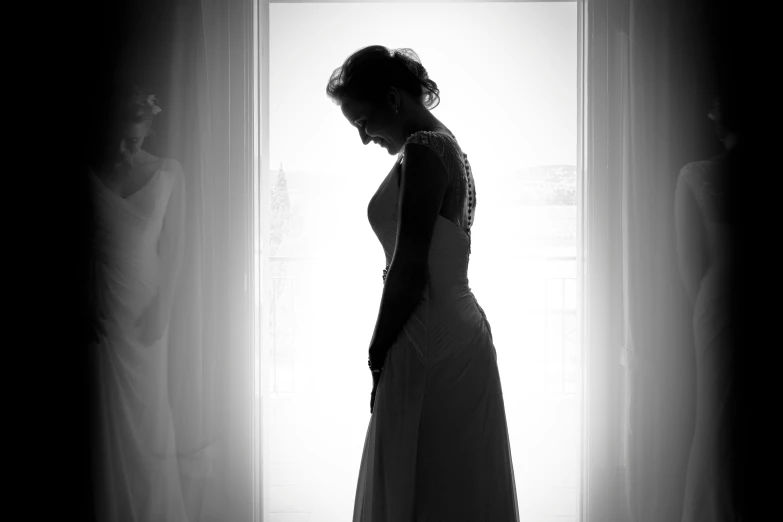
[(115, 34), (94, 43), (115, 51), (103, 49), (93, 98), (104, 99), (100, 90), (118, 73), (155, 93), (163, 112), (145, 148), (185, 173), (169, 402), (187, 514), (250, 520), (252, 2), (143, 0), (96, 11)]

